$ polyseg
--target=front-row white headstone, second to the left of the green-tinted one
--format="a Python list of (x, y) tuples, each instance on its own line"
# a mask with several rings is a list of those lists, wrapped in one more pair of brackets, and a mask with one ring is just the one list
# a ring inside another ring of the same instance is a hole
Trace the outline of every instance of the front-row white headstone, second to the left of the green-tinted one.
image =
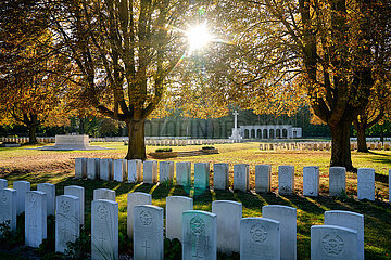
[(92, 200), (91, 259), (118, 259), (118, 204), (115, 202)]

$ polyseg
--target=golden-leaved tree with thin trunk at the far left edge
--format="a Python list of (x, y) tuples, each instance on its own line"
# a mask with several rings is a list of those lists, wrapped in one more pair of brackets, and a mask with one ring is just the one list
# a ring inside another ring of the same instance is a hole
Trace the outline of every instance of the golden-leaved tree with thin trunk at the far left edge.
[(68, 62), (52, 52), (47, 13), (38, 1), (0, 3), (0, 120), (25, 125), (36, 143), (40, 125), (66, 118), (62, 101)]

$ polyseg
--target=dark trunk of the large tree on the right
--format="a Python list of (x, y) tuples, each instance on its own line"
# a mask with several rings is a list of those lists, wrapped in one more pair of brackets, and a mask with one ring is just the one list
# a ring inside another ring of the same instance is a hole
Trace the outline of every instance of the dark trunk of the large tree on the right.
[(339, 125), (330, 126), (331, 131), (331, 160), (330, 167), (345, 167), (348, 171), (355, 171), (351, 159), (350, 127), (352, 121), (343, 119)]

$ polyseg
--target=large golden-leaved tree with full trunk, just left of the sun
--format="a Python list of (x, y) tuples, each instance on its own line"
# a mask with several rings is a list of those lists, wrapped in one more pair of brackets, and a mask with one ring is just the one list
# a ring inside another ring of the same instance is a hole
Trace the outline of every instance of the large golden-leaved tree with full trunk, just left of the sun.
[[(128, 128), (127, 159), (146, 159), (144, 120), (186, 51), (189, 1), (62, 0), (52, 25), (78, 66), (79, 102)], [(191, 22), (191, 21), (190, 21)]]

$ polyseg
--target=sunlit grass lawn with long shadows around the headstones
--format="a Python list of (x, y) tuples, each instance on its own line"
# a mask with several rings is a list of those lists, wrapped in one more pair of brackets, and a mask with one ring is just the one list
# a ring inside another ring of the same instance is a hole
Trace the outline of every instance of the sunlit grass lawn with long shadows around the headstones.
[[(324, 223), (324, 212), (330, 209), (350, 210), (365, 216), (365, 255), (366, 259), (391, 259), (391, 206), (388, 203), (388, 169), (391, 169), (391, 152), (382, 151), (369, 154), (353, 152), (353, 165), (357, 168), (374, 168), (376, 170), (375, 203), (358, 202), (356, 199), (356, 174), (348, 173), (348, 196), (338, 198), (328, 197), (328, 162), (330, 152), (327, 151), (260, 151), (258, 143), (220, 144), (214, 145), (219, 150), (216, 155), (172, 158), (174, 161), (207, 161), (228, 162), (230, 173), (235, 164), (250, 165), (251, 188), (255, 183), (255, 165), (272, 165), (272, 188), (277, 191), (277, 167), (293, 165), (295, 167), (295, 195), (279, 196), (272, 194), (255, 194), (240, 192), (197, 192), (184, 190), (181, 186), (163, 186), (146, 184), (127, 184), (118, 182), (74, 180), (74, 158), (123, 158), (127, 147), (122, 143), (93, 143), (112, 150), (90, 152), (49, 152), (26, 150), (30, 147), (0, 148), (0, 178), (13, 181), (27, 180), (33, 190), (37, 183), (50, 182), (56, 184), (58, 195), (63, 194), (66, 185), (80, 185), (86, 188), (86, 230), (90, 227), (90, 205), (92, 191), (106, 187), (116, 191), (116, 200), (119, 204), (119, 233), (126, 235), (126, 194), (129, 192), (146, 192), (152, 194), (152, 204), (165, 207), (165, 198), (171, 195), (191, 196), (194, 199), (194, 209), (211, 211), (212, 202), (219, 199), (237, 200), (243, 204), (243, 217), (262, 217), (261, 208), (264, 205), (279, 204), (298, 209), (298, 259), (310, 259), (310, 229), (315, 224)], [(153, 152), (155, 146), (148, 146)], [(193, 151), (201, 145), (173, 147), (174, 151)], [(302, 195), (302, 168), (304, 166), (320, 167), (320, 196), (308, 198)], [(211, 167), (212, 169), (213, 167)], [(211, 174), (211, 184), (212, 184)], [(230, 174), (232, 181), (232, 174)], [(121, 252), (131, 253), (131, 244), (119, 239)], [(7, 253), (5, 253), (7, 255)], [(1, 255), (1, 259), (8, 259)], [(14, 258), (16, 259), (16, 258)]]

